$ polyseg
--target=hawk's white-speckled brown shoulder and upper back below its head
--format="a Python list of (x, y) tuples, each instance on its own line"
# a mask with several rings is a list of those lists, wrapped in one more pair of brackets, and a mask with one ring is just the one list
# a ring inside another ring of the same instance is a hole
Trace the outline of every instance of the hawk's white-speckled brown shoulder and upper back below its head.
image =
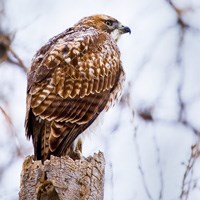
[(108, 73), (107, 69), (115, 67), (113, 62), (119, 56), (119, 49), (109, 34), (87, 26), (69, 28), (51, 38), (34, 56), (28, 90), (34, 83), (48, 81), (57, 67), (71, 69), (72, 77), (85, 77), (93, 71), (98, 76), (99, 68), (101, 73)]

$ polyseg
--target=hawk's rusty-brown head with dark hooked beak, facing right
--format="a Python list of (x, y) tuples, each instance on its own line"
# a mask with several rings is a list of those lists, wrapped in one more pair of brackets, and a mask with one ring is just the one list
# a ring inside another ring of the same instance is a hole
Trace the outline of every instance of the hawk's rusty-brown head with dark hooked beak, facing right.
[(124, 33), (131, 33), (131, 29), (123, 26), (118, 20), (107, 15), (93, 15), (81, 19), (75, 26), (90, 26), (111, 35), (117, 41)]

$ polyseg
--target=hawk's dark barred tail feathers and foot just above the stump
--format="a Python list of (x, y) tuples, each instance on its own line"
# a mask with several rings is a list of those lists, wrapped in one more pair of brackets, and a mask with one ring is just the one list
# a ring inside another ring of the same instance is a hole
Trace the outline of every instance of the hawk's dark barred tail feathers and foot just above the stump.
[(73, 141), (82, 132), (82, 126), (72, 123), (49, 122), (36, 117), (30, 109), (25, 121), (26, 135), (32, 137), (34, 146), (34, 159), (44, 162), (51, 155), (69, 155), (79, 159), (82, 152), (82, 141), (77, 145)]

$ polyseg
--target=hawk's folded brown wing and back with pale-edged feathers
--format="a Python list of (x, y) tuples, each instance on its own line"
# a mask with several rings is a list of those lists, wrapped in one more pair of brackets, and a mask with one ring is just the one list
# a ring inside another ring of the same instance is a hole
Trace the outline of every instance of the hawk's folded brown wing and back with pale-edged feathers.
[(49, 154), (61, 155), (90, 126), (122, 72), (115, 42), (93, 28), (69, 29), (37, 52), (28, 76), (27, 112), (50, 124)]

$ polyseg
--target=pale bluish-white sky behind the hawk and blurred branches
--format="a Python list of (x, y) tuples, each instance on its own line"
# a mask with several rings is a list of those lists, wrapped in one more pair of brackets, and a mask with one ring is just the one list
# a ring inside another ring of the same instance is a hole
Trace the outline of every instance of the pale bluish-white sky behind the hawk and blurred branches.
[[(195, 8), (183, 18), (192, 27), (200, 28), (200, 2), (175, 2), (181, 9)], [(127, 104), (123, 108), (116, 106), (105, 115), (98, 134), (86, 138), (84, 155), (99, 149), (105, 153), (105, 200), (157, 200), (161, 191), (162, 200), (179, 199), (186, 169), (183, 163), (187, 164), (197, 137), (189, 127), (177, 123), (180, 110), (177, 87), (182, 82), (185, 119), (199, 130), (200, 33), (186, 31), (180, 67), (175, 62), (180, 38), (176, 13), (165, 0), (6, 0), (5, 6), (3, 24), (16, 32), (12, 47), (27, 66), (41, 45), (82, 17), (104, 13), (132, 29), (131, 35), (124, 35), (119, 41), (126, 83), (131, 82), (131, 88), (128, 90), (126, 84), (124, 91), (129, 91), (132, 109), (153, 107), (156, 121), (147, 123), (137, 115), (133, 119)], [(26, 141), (23, 128), (26, 77), (20, 69), (6, 63), (0, 66), (0, 75), (0, 93), (8, 99), (6, 104), (0, 96), (0, 105), (12, 116), (17, 142), (26, 149), (24, 156), (32, 154), (32, 144)], [(15, 150), (12, 146), (16, 141), (10, 141), (8, 131), (0, 114), (0, 166)], [(1, 177), (0, 199), (3, 200), (18, 199), (23, 157), (13, 159), (16, 161)], [(144, 171), (145, 184), (138, 165)], [(199, 167), (197, 160), (192, 180), (200, 176), (196, 170)], [(200, 199), (198, 184), (188, 199)]]

